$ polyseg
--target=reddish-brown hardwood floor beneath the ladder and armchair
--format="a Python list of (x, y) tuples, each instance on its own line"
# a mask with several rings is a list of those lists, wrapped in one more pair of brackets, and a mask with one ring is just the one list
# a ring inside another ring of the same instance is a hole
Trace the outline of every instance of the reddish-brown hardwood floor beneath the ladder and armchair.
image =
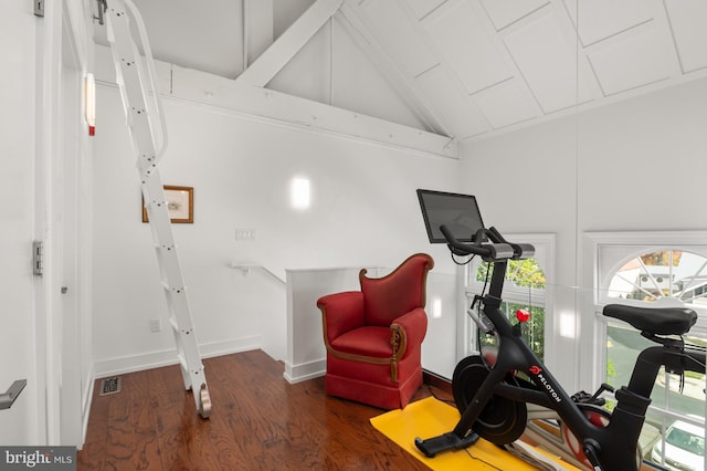
[[(261, 350), (203, 360), (211, 417), (196, 411), (179, 366), (122, 375), (95, 387), (78, 470), (425, 470), (369, 422), (383, 410), (296, 385)], [(415, 398), (447, 391), (423, 385)]]

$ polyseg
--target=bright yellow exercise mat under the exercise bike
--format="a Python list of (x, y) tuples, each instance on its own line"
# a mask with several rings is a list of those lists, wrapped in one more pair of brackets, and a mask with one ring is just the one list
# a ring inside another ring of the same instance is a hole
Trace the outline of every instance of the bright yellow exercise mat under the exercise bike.
[[(433, 397), (409, 404), (404, 409), (391, 410), (371, 419), (371, 425), (410, 454), (433, 470), (537, 470), (497, 446), (479, 439), (465, 450), (445, 451), (434, 458), (415, 448), (415, 437), (426, 439), (454, 429), (460, 420), (456, 408)], [(537, 449), (536, 449), (537, 450)], [(549, 457), (547, 453), (544, 453)], [(567, 462), (555, 460), (560, 469), (577, 470)]]

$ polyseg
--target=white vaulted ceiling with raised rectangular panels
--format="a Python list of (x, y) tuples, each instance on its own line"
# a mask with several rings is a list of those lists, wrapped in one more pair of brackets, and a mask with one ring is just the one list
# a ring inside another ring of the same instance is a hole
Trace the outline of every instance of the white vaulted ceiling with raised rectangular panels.
[[(705, 0), (135, 3), (156, 59), (236, 80), (309, 7), (334, 4), (329, 24), (350, 36), (419, 127), (456, 140), (707, 76)], [(97, 27), (97, 42), (103, 34)], [(265, 86), (297, 90), (282, 80)], [(394, 121), (363, 103), (342, 107), (354, 106)]]

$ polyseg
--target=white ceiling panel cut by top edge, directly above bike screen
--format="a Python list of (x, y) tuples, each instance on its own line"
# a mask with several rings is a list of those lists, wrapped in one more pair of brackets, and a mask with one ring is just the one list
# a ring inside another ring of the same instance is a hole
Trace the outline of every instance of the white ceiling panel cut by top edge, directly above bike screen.
[(423, 24), (468, 93), (513, 77), (507, 52), (481, 8), (450, 0)]

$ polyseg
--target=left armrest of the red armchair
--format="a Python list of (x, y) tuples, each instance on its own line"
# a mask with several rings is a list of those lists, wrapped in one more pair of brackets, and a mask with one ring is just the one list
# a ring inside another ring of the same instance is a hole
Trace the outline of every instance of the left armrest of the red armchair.
[(339, 335), (363, 325), (363, 293), (346, 291), (319, 297), (327, 345)]

